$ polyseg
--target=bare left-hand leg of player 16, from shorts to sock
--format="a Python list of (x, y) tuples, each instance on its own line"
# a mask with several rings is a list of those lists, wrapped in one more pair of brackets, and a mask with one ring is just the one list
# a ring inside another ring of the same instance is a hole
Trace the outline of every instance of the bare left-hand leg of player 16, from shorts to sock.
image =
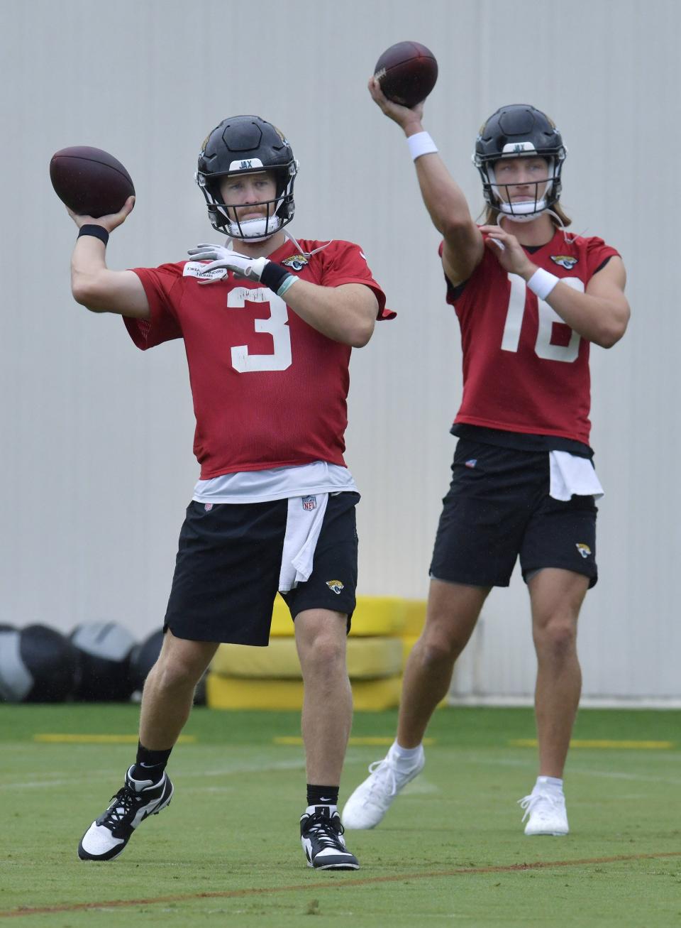
[(454, 663), (466, 647), (489, 588), (431, 580), (425, 625), (410, 652), (402, 683), (397, 743), (423, 741), (435, 707), (447, 695)]

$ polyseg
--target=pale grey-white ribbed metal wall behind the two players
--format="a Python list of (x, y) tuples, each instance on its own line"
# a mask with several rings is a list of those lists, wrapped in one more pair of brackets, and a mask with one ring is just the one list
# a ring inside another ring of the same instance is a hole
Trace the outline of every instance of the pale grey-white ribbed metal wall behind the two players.
[[(142, 354), (120, 320), (71, 301), (75, 230), (49, 159), (94, 145), (131, 171), (137, 206), (111, 238), (111, 266), (179, 260), (213, 234), (192, 179), (200, 142), (236, 112), (259, 112), (293, 142), (294, 233), (359, 241), (399, 314), (354, 355), (347, 459), (364, 494), (361, 592), (425, 596), (459, 340), (406, 146), (365, 89), (384, 48), (415, 39), (440, 65), (427, 127), (473, 208), (478, 126), (503, 103), (532, 102), (570, 149), (574, 229), (622, 251), (631, 327), (612, 352), (593, 351), (607, 496), (601, 579), (582, 619), (585, 693), (681, 698), (680, 27), (675, 0), (2, 0), (0, 622), (156, 627), (197, 474), (182, 345)], [(455, 688), (523, 696), (534, 667), (514, 578), (490, 597)]]

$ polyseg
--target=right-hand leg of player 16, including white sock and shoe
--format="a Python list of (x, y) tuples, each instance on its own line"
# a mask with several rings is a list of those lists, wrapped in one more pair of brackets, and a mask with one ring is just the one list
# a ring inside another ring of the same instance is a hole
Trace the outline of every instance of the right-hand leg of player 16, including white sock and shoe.
[(577, 659), (577, 619), (588, 577), (545, 568), (528, 583), (532, 603), (537, 674), (535, 690), (539, 776), (520, 800), (528, 818), (525, 834), (561, 835), (569, 831), (562, 771), (582, 690)]

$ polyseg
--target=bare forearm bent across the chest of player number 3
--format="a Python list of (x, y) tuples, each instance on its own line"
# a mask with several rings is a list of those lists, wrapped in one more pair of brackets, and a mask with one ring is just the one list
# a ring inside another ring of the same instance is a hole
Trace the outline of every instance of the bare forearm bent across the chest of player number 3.
[(378, 301), (362, 284), (358, 290), (347, 290), (296, 280), (285, 301), (296, 316), (334, 342), (361, 348), (372, 337)]

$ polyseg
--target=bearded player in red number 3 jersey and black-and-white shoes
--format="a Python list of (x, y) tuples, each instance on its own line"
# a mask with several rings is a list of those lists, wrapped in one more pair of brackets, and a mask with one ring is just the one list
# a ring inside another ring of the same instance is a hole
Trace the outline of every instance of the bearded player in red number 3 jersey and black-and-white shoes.
[(346, 636), (357, 585), (357, 487), (343, 453), (348, 363), (385, 296), (359, 246), (297, 241), (297, 161), (259, 116), (223, 120), (196, 180), (229, 247), (189, 261), (107, 268), (108, 234), (132, 210), (80, 227), (73, 296), (123, 316), (142, 349), (183, 339), (200, 480), (180, 535), (158, 662), (146, 678), (135, 763), (82, 836), (85, 860), (118, 857), (134, 829), (170, 803), (170, 752), (197, 681), (221, 641), (266, 646), (279, 591), (295, 620), (304, 680), (307, 807), (300, 840), (310, 867), (357, 870), (337, 811), (352, 715)]

